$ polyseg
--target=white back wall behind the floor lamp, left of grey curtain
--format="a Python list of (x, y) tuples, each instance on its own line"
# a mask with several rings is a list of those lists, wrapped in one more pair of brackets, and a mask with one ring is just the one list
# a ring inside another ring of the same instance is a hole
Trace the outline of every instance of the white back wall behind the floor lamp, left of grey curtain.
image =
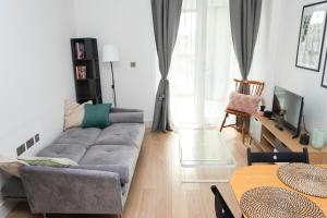
[[(99, 58), (102, 45), (113, 44), (121, 61), (113, 63), (119, 107), (145, 110), (145, 120), (153, 119), (156, 94), (156, 47), (149, 0), (75, 0), (78, 37), (98, 39)], [(135, 61), (136, 68), (130, 62)], [(100, 64), (102, 96), (111, 101), (109, 64)]]

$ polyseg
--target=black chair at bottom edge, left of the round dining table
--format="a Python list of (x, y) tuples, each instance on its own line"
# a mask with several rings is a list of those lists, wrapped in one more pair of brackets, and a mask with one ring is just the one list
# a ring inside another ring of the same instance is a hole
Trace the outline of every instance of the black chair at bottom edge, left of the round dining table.
[(234, 218), (234, 216), (231, 213), (230, 208), (226, 204), (222, 195), (220, 194), (218, 187), (216, 185), (211, 185), (211, 191), (215, 195), (216, 217), (217, 218)]

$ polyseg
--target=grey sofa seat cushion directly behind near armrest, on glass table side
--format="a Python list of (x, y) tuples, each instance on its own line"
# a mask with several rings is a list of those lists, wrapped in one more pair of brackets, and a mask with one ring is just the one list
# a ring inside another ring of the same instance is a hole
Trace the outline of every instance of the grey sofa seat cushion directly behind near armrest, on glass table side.
[(134, 146), (95, 145), (80, 160), (77, 167), (117, 172), (121, 183), (131, 181), (137, 161), (138, 149)]

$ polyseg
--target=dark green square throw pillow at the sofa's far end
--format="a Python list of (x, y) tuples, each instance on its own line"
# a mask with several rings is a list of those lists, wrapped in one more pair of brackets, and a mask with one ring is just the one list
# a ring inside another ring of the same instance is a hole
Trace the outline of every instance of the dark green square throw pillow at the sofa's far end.
[(110, 124), (109, 112), (111, 104), (85, 105), (82, 128), (107, 128)]

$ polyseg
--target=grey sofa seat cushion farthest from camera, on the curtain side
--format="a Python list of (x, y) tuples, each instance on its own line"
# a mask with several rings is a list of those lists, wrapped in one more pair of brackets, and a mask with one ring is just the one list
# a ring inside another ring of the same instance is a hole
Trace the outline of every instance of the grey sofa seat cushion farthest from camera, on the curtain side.
[(114, 123), (100, 133), (96, 145), (133, 145), (141, 147), (144, 137), (144, 123)]

